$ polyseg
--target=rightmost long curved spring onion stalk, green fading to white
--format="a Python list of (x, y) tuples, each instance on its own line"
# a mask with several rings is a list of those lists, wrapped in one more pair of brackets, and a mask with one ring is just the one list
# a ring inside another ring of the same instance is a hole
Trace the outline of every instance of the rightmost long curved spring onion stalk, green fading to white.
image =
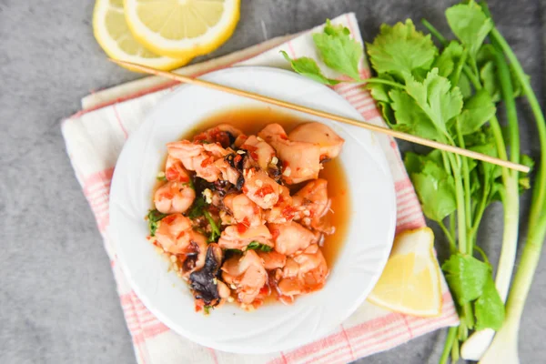
[(483, 364), (499, 362), (519, 363), (518, 333), (520, 329), (521, 313), (525, 300), (529, 295), (532, 277), (541, 257), (541, 249), (546, 238), (546, 122), (541, 106), (532, 91), (531, 84), (523, 72), (518, 58), (514, 55), (510, 45), (496, 28), (490, 33), (491, 39), (501, 48), (504, 56), (511, 62), (513, 71), (521, 84), (522, 94), (531, 106), (537, 124), (541, 142), (541, 166), (535, 181), (535, 188), (531, 199), (529, 230), (527, 242), (521, 254), (521, 262), (512, 282), (512, 287), (506, 304), (506, 319), (493, 339), (490, 348), (480, 360)]

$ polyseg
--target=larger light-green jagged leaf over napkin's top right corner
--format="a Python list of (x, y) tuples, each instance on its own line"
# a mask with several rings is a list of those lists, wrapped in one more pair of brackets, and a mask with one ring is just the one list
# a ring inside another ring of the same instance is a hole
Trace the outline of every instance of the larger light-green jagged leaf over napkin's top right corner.
[(313, 35), (322, 61), (330, 68), (359, 81), (359, 62), (364, 55), (362, 45), (350, 37), (349, 29), (326, 21), (323, 33)]

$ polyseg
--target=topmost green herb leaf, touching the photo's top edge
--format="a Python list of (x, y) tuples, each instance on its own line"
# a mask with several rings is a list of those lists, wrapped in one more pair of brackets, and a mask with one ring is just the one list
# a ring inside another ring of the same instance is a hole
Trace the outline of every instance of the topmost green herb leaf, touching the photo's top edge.
[(469, 4), (448, 8), (446, 18), (451, 31), (467, 47), (470, 56), (476, 56), (485, 37), (493, 28), (490, 17), (483, 13), (480, 5), (470, 1)]

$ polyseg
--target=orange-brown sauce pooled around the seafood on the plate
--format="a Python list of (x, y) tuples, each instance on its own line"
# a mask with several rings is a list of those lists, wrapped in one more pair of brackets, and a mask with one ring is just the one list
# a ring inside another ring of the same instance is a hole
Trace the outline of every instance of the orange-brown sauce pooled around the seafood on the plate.
[[(218, 124), (231, 124), (238, 127), (246, 135), (256, 135), (264, 126), (277, 123), (285, 128), (289, 133), (295, 126), (305, 123), (307, 120), (298, 116), (284, 113), (273, 109), (272, 107), (256, 107), (245, 109), (227, 109), (208, 116), (202, 122), (198, 123), (191, 131), (185, 133), (180, 139), (192, 139), (197, 133), (207, 128), (217, 126)], [(345, 169), (339, 158), (333, 159), (324, 164), (324, 169), (319, 173), (319, 177), (328, 181), (328, 193), (332, 199), (329, 219), (336, 232), (326, 236), (322, 253), (331, 268), (338, 258), (345, 239), (350, 220), (350, 199), (349, 186)], [(303, 187), (307, 182), (294, 187), (297, 190)]]

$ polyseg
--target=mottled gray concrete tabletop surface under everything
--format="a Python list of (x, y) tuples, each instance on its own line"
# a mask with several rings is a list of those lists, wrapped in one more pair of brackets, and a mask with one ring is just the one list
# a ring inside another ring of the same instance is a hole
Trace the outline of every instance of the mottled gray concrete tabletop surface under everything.
[[(59, 127), (78, 110), (81, 96), (139, 77), (106, 61), (92, 34), (93, 3), (0, 0), (0, 363), (135, 363), (108, 259)], [(348, 11), (357, 13), (367, 41), (381, 23), (406, 17), (426, 16), (445, 30), (443, 10), (451, 3), (243, 0), (235, 35), (210, 56)], [(490, 6), (542, 96), (543, 5), (497, 0)], [(523, 151), (537, 156), (529, 109), (521, 104), (520, 111)], [(491, 207), (480, 231), (492, 261), (499, 254), (501, 211)], [(521, 325), (522, 363), (546, 358), (545, 282), (542, 257)], [(435, 363), (444, 335), (434, 332), (360, 362)]]

